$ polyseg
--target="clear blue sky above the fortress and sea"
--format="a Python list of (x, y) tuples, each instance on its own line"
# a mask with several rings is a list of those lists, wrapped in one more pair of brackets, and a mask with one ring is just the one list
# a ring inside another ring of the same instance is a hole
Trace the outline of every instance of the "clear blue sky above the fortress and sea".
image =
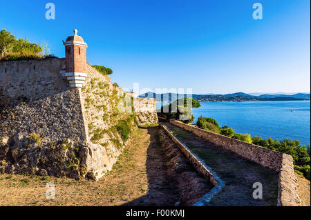
[[(45, 19), (55, 3), (56, 19)], [(263, 20), (252, 19), (253, 3)], [(91, 64), (122, 88), (192, 88), (196, 94), (310, 92), (310, 1), (1, 1), (0, 29), (48, 41), (77, 28)]]

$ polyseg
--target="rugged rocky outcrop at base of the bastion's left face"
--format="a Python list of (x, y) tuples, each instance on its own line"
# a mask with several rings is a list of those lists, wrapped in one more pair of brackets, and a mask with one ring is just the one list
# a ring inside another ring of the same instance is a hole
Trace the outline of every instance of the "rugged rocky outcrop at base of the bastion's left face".
[(1, 141), (0, 172), (79, 179), (81, 148), (72, 140), (43, 143), (35, 133), (17, 133), (3, 139), (8, 141)]

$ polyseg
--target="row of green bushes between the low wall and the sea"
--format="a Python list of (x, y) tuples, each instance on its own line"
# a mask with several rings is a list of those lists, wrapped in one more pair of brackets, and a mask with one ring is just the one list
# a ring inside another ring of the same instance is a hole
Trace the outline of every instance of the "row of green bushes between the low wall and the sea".
[(263, 139), (262, 137), (251, 137), (250, 134), (238, 134), (232, 128), (227, 126), (220, 127), (215, 119), (207, 117), (199, 117), (196, 125), (199, 128), (208, 130), (217, 134), (222, 134), (227, 137), (232, 137), (247, 143), (254, 143), (258, 146), (276, 150), (285, 154), (290, 154), (294, 159), (294, 170), (296, 173), (301, 174), (306, 179), (310, 180), (310, 146), (301, 146), (300, 141), (291, 139), (284, 139), (279, 141)]

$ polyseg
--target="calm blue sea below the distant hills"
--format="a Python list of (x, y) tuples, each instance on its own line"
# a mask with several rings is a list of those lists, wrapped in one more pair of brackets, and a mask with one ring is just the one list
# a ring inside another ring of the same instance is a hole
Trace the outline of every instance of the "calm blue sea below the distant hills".
[[(157, 103), (157, 108), (167, 103)], [(219, 126), (228, 126), (252, 137), (283, 140), (297, 139), (310, 144), (310, 101), (245, 101), (200, 103), (194, 108), (200, 115), (216, 119)]]

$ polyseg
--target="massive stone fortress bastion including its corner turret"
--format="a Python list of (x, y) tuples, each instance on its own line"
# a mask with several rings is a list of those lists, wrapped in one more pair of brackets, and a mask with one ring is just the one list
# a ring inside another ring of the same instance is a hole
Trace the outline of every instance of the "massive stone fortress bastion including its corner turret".
[(82, 37), (64, 45), (66, 59), (0, 61), (0, 172), (99, 179), (126, 146), (117, 125), (135, 129), (131, 97), (86, 63)]

